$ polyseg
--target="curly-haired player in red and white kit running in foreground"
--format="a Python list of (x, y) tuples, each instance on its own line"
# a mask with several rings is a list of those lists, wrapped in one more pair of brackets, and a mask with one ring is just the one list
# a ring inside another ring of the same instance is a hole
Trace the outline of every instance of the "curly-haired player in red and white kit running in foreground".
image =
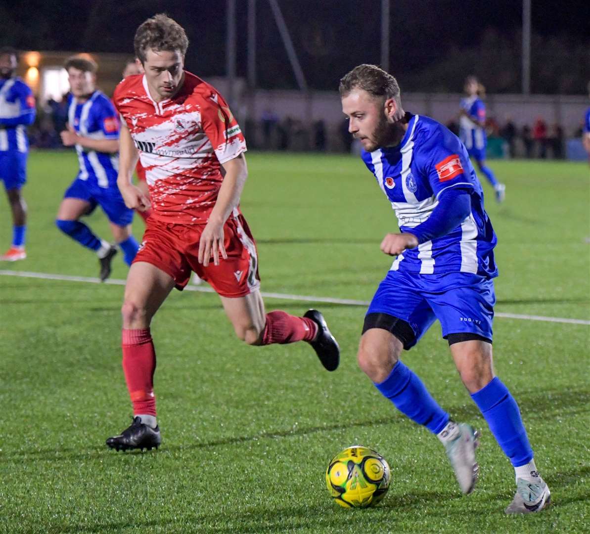
[[(303, 317), (264, 312), (256, 245), (238, 207), (247, 177), (244, 136), (214, 87), (183, 70), (185, 31), (166, 15), (155, 15), (137, 29), (134, 44), (145, 74), (125, 78), (113, 97), (123, 123), (118, 185), (127, 207), (151, 206), (152, 215), (125, 286), (123, 371), (134, 419), (107, 439), (116, 450), (160, 444), (149, 327), (191, 271), (217, 291), (244, 342), (309, 342), (329, 371), (340, 357), (317, 310)], [(151, 201), (131, 182), (138, 151)]]

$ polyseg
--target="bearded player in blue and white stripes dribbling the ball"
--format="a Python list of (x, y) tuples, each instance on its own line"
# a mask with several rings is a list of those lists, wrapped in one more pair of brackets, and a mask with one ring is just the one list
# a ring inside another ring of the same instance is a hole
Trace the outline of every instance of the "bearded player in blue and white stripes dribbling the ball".
[(444, 444), (463, 493), (477, 480), (477, 432), (457, 423), (401, 361), (438, 319), (463, 384), (514, 466), (506, 513), (537, 512), (550, 493), (537, 473), (520, 411), (492, 365), (496, 234), (463, 143), (428, 117), (405, 113), (398, 83), (375, 65), (340, 80), (349, 131), (391, 202), (401, 232), (383, 238), (396, 255), (365, 316), (359, 366), (384, 397)]

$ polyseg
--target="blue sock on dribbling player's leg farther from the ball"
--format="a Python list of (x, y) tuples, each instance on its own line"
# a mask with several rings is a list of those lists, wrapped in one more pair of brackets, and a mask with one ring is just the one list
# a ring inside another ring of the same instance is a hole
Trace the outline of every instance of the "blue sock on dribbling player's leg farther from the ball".
[(491, 433), (514, 467), (523, 466), (533, 458), (520, 410), (508, 388), (496, 376), (487, 386), (471, 394), (486, 418)]

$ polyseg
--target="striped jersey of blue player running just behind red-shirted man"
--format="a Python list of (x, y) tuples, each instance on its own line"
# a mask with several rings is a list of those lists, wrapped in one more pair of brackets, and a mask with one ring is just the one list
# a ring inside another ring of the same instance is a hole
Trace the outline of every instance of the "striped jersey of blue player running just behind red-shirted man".
[[(109, 98), (98, 90), (82, 103), (72, 95), (68, 97), (68, 122), (83, 137), (119, 139), (117, 112)], [(102, 188), (117, 187), (118, 153), (96, 152), (80, 145), (76, 145), (76, 152), (80, 164), (77, 178)]]

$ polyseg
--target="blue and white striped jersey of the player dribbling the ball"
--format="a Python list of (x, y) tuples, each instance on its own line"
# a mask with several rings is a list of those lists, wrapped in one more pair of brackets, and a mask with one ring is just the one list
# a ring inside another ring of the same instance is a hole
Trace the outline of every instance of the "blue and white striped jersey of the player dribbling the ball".
[(429, 117), (407, 114), (398, 146), (362, 151), (362, 159), (391, 202), (401, 231), (427, 221), (445, 189), (466, 189), (471, 213), (453, 231), (399, 254), (391, 270), (419, 274), (498, 274), (497, 238), (483, 205), (483, 191), (463, 143)]

